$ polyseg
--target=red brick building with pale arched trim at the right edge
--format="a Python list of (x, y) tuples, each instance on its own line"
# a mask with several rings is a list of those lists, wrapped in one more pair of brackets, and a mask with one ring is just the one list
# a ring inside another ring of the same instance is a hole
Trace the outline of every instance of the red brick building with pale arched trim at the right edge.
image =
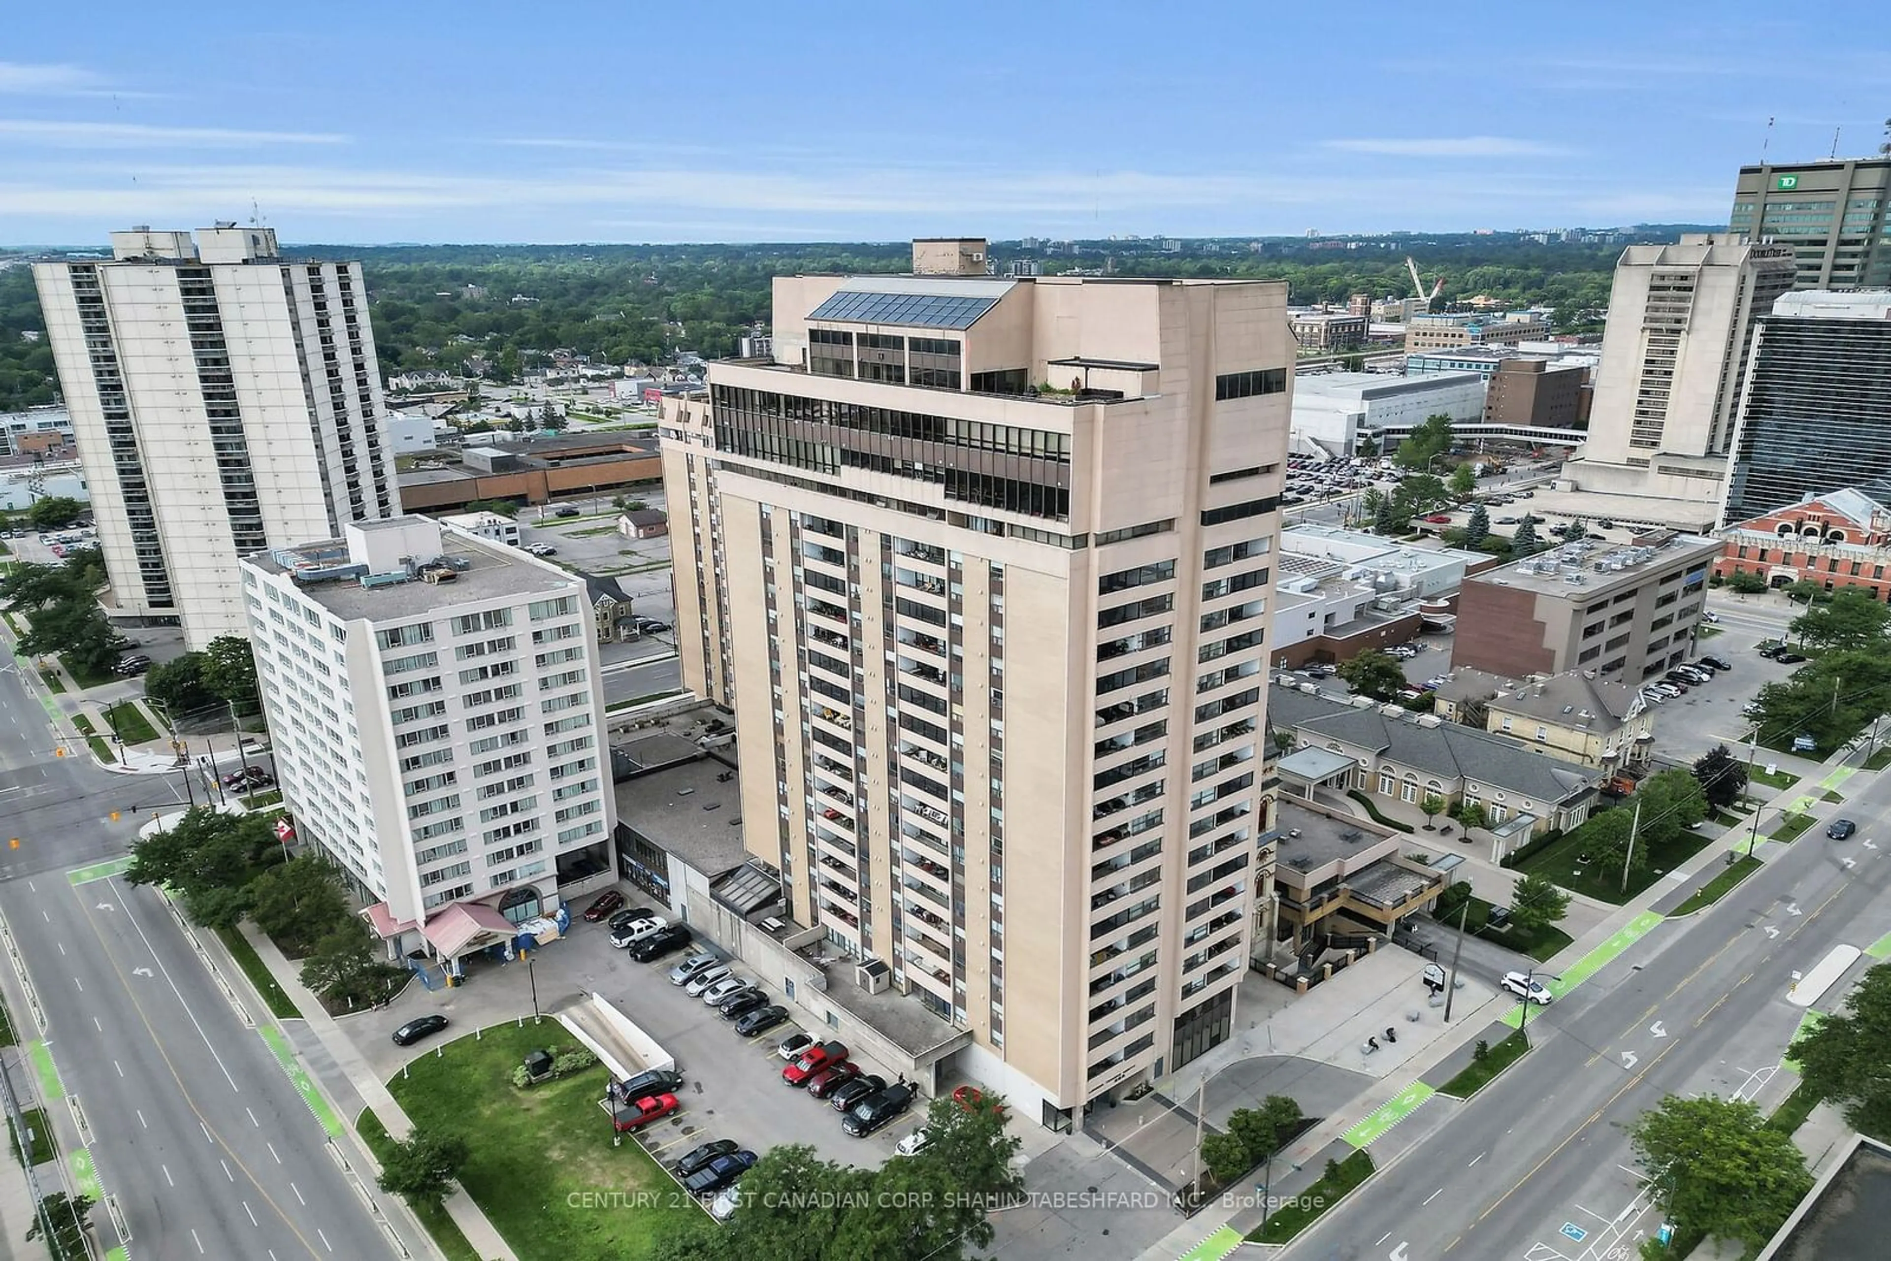
[(1757, 573), (1768, 586), (1802, 579), (1891, 596), (1891, 509), (1859, 490), (1808, 495), (1721, 531), (1713, 573)]

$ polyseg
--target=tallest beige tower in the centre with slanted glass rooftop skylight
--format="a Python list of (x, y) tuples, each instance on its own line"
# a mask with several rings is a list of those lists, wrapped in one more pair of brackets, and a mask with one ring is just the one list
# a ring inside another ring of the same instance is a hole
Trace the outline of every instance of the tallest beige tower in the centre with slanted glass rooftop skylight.
[(664, 401), (677, 639), (790, 919), (1067, 1127), (1248, 970), (1293, 338), (1280, 282), (980, 251), (777, 278), (773, 357)]

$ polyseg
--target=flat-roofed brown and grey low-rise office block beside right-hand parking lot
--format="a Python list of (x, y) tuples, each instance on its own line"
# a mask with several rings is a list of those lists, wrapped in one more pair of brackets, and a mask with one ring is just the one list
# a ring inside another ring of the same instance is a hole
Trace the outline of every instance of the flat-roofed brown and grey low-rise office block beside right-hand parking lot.
[(1639, 684), (1692, 652), (1719, 550), (1674, 531), (1626, 548), (1579, 539), (1466, 579), (1452, 662), (1513, 679), (1585, 669)]

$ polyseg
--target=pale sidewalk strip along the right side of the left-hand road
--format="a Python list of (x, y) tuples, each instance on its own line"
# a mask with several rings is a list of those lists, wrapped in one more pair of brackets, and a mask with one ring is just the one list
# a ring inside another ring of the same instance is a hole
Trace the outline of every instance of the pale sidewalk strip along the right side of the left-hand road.
[[(354, 1144), (363, 1168), (371, 1174), (378, 1174), (380, 1165), (354, 1131), (356, 1117), (363, 1108), (373, 1108), (374, 1115), (380, 1117), (380, 1123), (393, 1138), (405, 1138), (414, 1129), (414, 1123), (401, 1110), (401, 1104), (393, 1100), (393, 1095), (388, 1093), (388, 1087), (380, 1081), (380, 1078), (369, 1068), (367, 1059), (361, 1057), (354, 1040), (342, 1032), (333, 1015), (321, 1010), (321, 1000), (303, 985), (301, 970), (286, 960), (282, 951), (276, 949), (276, 943), (270, 941), (255, 924), (244, 921), (242, 934), (250, 940), (250, 945), (255, 947), (255, 953), (263, 957), (270, 976), (276, 977), (276, 983), (282, 985), (284, 993), (303, 1013), (301, 1021), (278, 1021), (282, 1032), (287, 1034), (289, 1044), (295, 1047), (295, 1059), (301, 1061), (308, 1074), (320, 1083), (321, 1095), (325, 1095), (340, 1112), (342, 1129), (348, 1132), (348, 1140)], [(206, 941), (212, 949), (221, 949), (214, 936), (208, 936)], [(229, 966), (234, 974), (234, 962)], [(261, 1000), (257, 1000), (257, 1008), (265, 1010), (261, 1008)], [(382, 1204), (382, 1212), (388, 1214), (390, 1219), (399, 1219), (407, 1227), (403, 1235), (420, 1240), (422, 1250), (427, 1255), (437, 1255), (431, 1236), (401, 1201), (382, 1195), (373, 1187), (373, 1182), (369, 1182), (369, 1189)], [(518, 1261), (518, 1255), (465, 1191), (456, 1187), (454, 1193), (446, 1197), (446, 1212), (452, 1214), (454, 1225), (460, 1227), (460, 1233), (467, 1236), (467, 1242), (473, 1244), (473, 1252), (480, 1257), (490, 1257), (492, 1261)]]

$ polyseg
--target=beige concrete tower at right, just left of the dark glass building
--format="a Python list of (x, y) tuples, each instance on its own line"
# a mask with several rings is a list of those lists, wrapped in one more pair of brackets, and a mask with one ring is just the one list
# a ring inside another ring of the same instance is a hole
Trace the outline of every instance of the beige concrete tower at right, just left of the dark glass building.
[[(1793, 250), (1725, 234), (1628, 246), (1615, 267), (1583, 490), (1713, 505), (1753, 329), (1793, 287)], [(1711, 514), (1711, 507), (1709, 507)]]

